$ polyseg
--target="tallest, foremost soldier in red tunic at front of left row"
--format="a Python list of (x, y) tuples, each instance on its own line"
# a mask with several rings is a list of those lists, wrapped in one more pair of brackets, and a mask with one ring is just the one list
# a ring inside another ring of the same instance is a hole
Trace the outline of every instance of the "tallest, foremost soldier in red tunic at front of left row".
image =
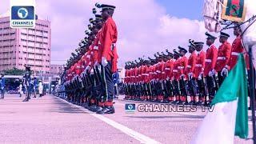
[(113, 114), (113, 97), (114, 97), (114, 84), (112, 81), (112, 74), (117, 71), (118, 54), (116, 50), (116, 42), (118, 39), (117, 26), (112, 18), (115, 6), (101, 5), (102, 18), (105, 20), (102, 26), (102, 47), (101, 52), (98, 53), (102, 65), (102, 78), (104, 79), (102, 90), (104, 90), (104, 107), (102, 110), (97, 111), (97, 114)]

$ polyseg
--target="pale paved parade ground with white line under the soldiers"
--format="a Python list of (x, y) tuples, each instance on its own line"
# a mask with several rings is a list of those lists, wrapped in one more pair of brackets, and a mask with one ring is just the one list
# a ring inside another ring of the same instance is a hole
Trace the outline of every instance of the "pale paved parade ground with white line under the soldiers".
[[(115, 100), (115, 114), (98, 115), (52, 95), (22, 99), (7, 94), (0, 100), (0, 143), (182, 144), (190, 142), (206, 114), (201, 109), (127, 114), (126, 103), (139, 103)], [(249, 127), (251, 138), (251, 121)], [(235, 138), (235, 143), (252, 141)]]

